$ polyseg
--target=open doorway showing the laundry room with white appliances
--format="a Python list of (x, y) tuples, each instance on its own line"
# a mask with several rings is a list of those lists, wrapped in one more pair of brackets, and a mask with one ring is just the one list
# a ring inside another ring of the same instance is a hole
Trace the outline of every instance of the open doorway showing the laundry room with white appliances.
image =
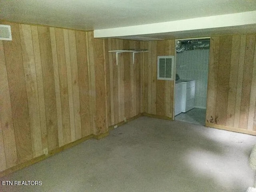
[(210, 38), (176, 40), (175, 120), (205, 125)]

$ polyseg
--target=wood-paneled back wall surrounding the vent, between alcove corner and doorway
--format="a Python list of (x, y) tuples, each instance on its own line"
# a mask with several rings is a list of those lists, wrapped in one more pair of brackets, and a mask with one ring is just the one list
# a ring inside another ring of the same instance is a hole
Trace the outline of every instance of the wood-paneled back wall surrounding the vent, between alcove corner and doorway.
[(174, 40), (143, 42), (143, 110), (147, 114), (174, 118), (174, 81), (157, 80), (157, 56), (175, 54)]

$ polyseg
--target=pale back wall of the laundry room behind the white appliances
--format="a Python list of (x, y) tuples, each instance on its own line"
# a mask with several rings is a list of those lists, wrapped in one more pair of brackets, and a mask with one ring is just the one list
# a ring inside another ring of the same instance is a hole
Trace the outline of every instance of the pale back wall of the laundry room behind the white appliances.
[(195, 107), (206, 108), (209, 50), (190, 50), (176, 54), (176, 73), (180, 79), (196, 80)]

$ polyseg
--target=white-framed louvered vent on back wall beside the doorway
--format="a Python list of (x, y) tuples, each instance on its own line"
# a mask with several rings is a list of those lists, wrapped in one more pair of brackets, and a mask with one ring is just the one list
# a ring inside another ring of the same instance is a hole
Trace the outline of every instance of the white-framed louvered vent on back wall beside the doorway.
[(174, 56), (157, 57), (157, 79), (173, 80)]

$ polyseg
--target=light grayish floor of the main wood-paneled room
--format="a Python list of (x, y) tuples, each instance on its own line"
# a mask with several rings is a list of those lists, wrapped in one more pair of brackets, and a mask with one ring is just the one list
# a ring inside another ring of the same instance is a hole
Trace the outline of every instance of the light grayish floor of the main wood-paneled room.
[(254, 184), (248, 157), (256, 137), (140, 117), (0, 180), (12, 192), (244, 192)]

